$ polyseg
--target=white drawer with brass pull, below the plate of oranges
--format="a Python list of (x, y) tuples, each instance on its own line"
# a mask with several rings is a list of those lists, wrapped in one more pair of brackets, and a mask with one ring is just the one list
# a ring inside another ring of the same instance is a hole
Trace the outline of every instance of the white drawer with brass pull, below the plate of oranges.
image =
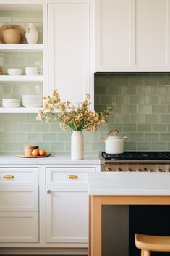
[(0, 168), (0, 186), (23, 185), (38, 185), (38, 168)]

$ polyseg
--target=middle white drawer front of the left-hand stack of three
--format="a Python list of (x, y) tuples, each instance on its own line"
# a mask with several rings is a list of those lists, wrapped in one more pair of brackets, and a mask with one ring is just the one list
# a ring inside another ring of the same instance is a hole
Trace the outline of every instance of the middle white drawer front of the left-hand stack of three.
[(1, 186), (0, 212), (38, 211), (38, 186)]

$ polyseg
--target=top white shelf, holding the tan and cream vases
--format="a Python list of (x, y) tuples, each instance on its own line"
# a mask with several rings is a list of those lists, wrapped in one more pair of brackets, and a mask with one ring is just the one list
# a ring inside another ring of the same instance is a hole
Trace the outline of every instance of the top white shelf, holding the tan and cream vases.
[(43, 44), (0, 44), (0, 52), (43, 51)]

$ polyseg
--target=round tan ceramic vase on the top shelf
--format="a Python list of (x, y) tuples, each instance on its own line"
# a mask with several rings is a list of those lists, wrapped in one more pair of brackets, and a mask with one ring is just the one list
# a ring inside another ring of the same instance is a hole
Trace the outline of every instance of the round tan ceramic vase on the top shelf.
[(6, 29), (2, 31), (2, 35), (6, 44), (20, 44), (22, 41), (22, 33), (14, 25), (7, 25)]

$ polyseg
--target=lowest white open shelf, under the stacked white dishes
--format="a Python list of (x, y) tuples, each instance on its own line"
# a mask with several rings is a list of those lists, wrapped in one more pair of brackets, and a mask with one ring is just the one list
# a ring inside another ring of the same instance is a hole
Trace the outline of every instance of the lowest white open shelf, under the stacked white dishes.
[(0, 113), (38, 113), (39, 107), (0, 107)]

